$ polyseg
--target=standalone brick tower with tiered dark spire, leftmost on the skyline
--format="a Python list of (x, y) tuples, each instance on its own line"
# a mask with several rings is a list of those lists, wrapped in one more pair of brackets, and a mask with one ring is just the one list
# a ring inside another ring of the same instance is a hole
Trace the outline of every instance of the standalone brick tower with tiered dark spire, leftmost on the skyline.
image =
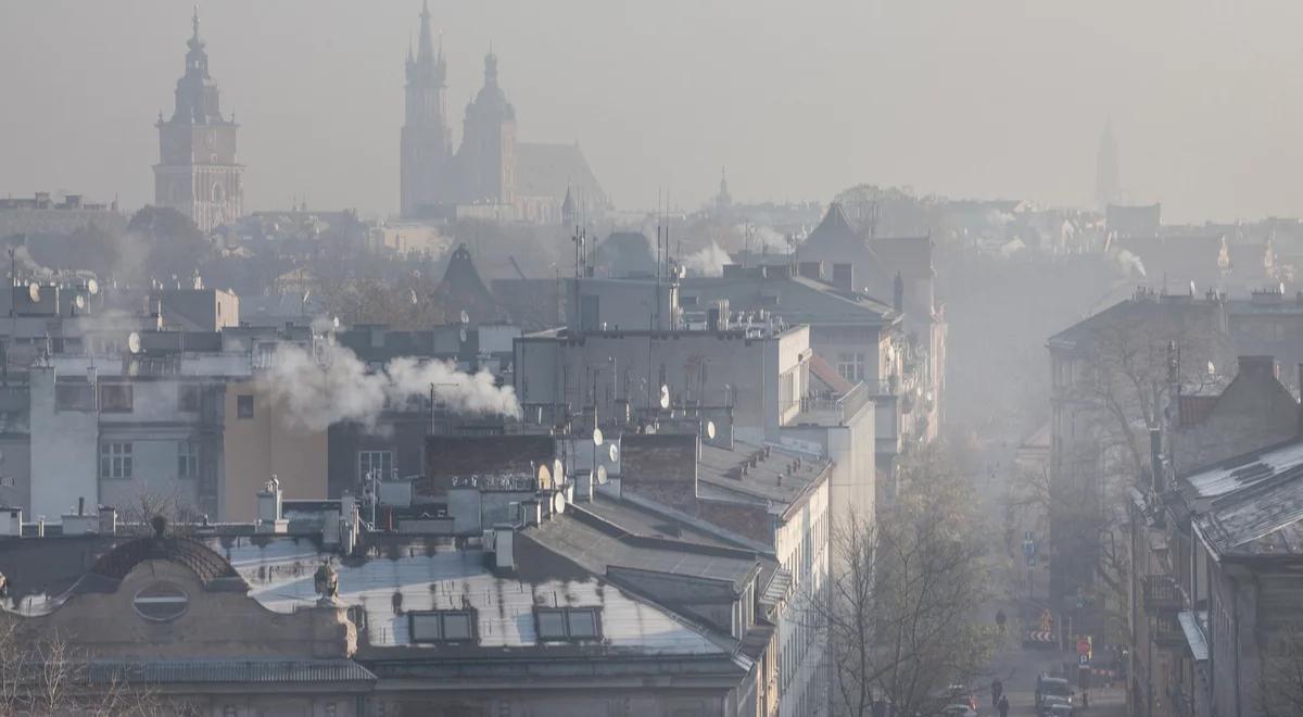
[(154, 166), (154, 203), (185, 214), (208, 232), (242, 212), (244, 167), (236, 163), (235, 117), (218, 107), (218, 83), (208, 76), (208, 53), (199, 39), (199, 12), (176, 82), (176, 111), (159, 112), (159, 163)]

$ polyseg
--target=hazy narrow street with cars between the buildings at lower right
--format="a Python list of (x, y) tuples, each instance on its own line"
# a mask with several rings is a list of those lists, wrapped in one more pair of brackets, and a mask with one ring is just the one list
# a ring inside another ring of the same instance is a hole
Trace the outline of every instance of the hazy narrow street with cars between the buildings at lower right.
[[(1075, 680), (1075, 652), (1062, 652), (1057, 645), (1048, 649), (1023, 647), (1022, 636), (1028, 630), (1040, 628), (1040, 604), (1028, 601), (1025, 561), (1022, 554), (1023, 531), (1035, 527), (1036, 516), (1006, 511), (1010, 501), (1010, 480), (1014, 475), (1014, 441), (993, 439), (988, 441), (980, 452), (980, 459), (975, 461), (973, 472), (968, 476), (977, 489), (982, 514), (988, 516), (988, 529), (984, 534), (990, 536), (990, 554), (995, 558), (994, 574), (997, 585), (994, 597), (977, 609), (975, 619), (994, 621), (997, 610), (1003, 610), (1009, 617), (1005, 644), (995, 651), (988, 667), (986, 684), (981, 686), (982, 703), (981, 714), (995, 714), (990, 701), (990, 679), (998, 677), (1005, 684), (1005, 694), (1009, 696), (1010, 717), (1023, 717), (1036, 714), (1035, 694), (1036, 675), (1042, 671), (1066, 674)], [(1012, 545), (1006, 545), (1006, 536), (1012, 532), (1016, 538)], [(1033, 594), (1044, 597), (1046, 578), (1044, 571), (1033, 571)], [(1066, 671), (1067, 670), (1067, 671)], [(1081, 707), (1083, 695), (1078, 694), (1074, 700), (1078, 704), (1078, 714), (1081, 717), (1124, 717), (1126, 695), (1121, 684), (1115, 690), (1095, 687), (1085, 695), (1089, 707)]]

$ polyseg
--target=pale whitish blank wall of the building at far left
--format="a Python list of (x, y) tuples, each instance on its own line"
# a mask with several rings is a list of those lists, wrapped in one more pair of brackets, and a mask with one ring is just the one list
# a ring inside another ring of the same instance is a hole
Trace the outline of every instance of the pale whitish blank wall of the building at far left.
[[(95, 411), (57, 411), (56, 372), (33, 368), (31, 386), (31, 519), (57, 523), (77, 506), (99, 502), (99, 421)], [(69, 377), (85, 385), (85, 374)], [(91, 407), (93, 408), (93, 407)]]

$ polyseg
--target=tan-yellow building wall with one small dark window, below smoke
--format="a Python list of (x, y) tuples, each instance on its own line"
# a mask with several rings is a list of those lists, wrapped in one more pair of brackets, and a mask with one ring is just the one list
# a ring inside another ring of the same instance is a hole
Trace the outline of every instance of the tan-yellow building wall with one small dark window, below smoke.
[[(253, 398), (251, 418), (240, 417), (240, 396)], [(257, 379), (227, 386), (223, 428), (222, 520), (255, 520), (257, 493), (272, 475), (287, 498), (326, 498), (327, 432), (294, 425)]]

